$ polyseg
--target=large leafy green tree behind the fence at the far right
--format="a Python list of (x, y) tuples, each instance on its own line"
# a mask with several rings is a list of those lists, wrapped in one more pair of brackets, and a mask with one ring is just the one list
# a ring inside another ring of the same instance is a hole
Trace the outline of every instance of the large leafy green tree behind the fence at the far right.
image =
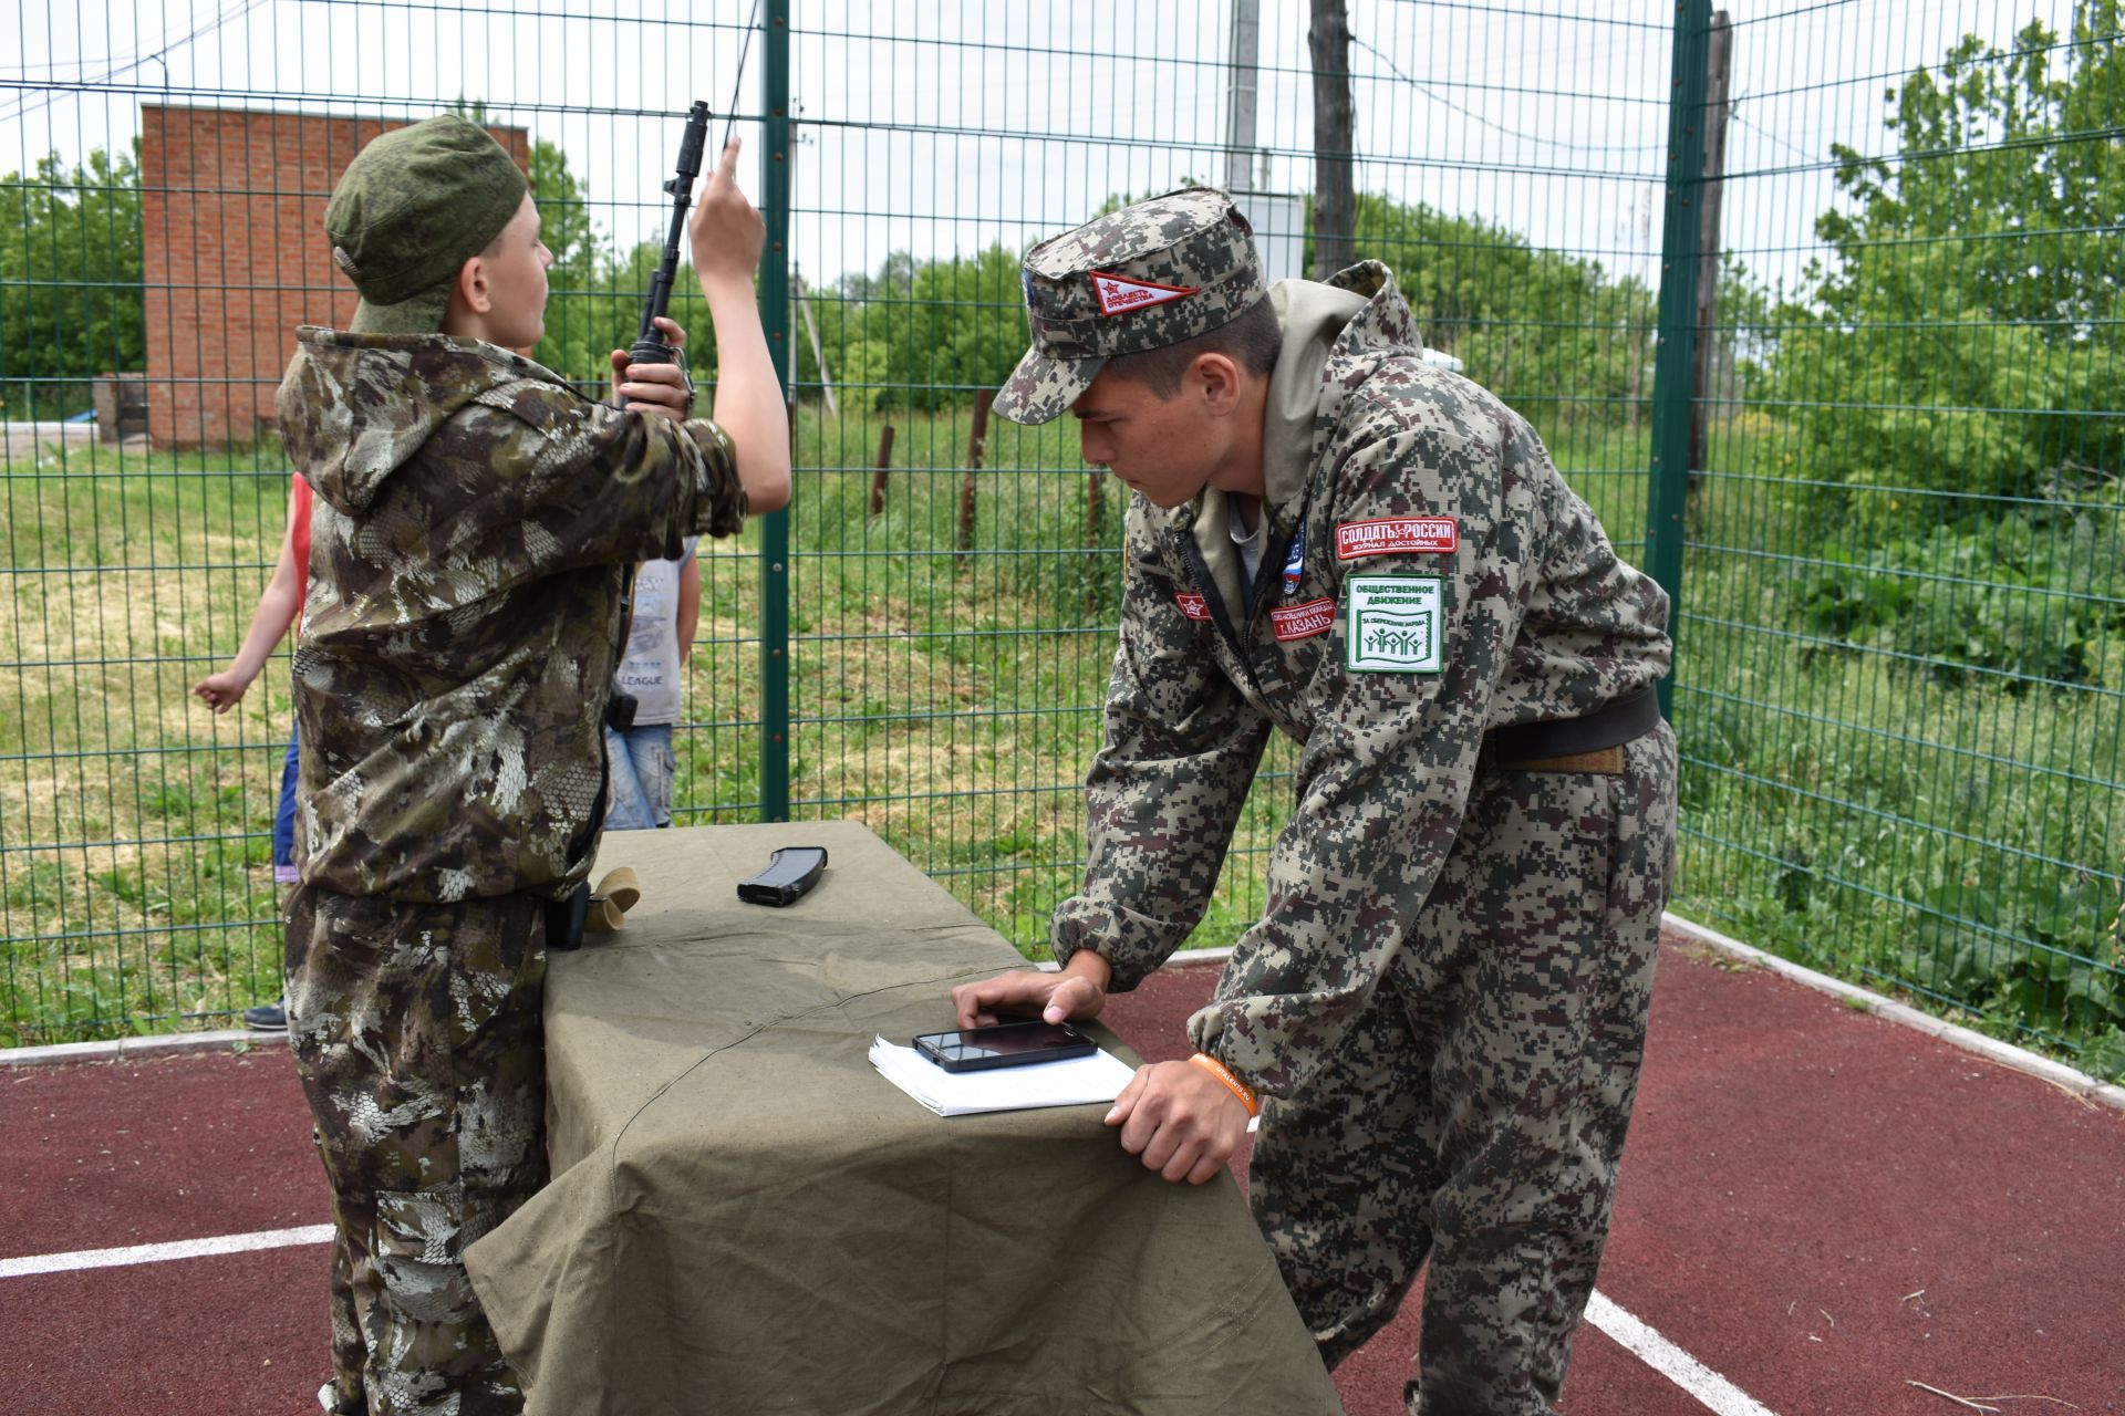
[(1830, 548), (1808, 633), (1946, 681), (2114, 686), (2119, 8), (2080, 0), (2068, 42), (1966, 36), (1889, 89), (1891, 153), (1836, 149), (1830, 257), (1766, 361), (1779, 469)]

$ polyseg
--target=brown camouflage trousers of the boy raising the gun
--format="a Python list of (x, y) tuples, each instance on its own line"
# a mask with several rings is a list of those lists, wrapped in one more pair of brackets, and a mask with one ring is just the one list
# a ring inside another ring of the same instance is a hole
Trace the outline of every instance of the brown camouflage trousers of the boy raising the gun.
[(516, 1374), (463, 1250), (546, 1180), (538, 900), (289, 902), (295, 1070), (332, 1182), (336, 1416), (502, 1416)]

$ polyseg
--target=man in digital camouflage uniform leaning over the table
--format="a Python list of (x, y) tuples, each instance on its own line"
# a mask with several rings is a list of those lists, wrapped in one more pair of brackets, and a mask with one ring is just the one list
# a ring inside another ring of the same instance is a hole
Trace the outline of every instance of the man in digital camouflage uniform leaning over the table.
[(1300, 747), (1266, 906), (1107, 1117), (1252, 1202), (1332, 1365), (1424, 1291), (1411, 1412), (1536, 1416), (1609, 1227), (1674, 849), (1662, 590), (1541, 439), (1424, 361), (1394, 276), (1262, 287), (1194, 189), (1024, 263), (997, 412), (1071, 410), (1130, 499), (1107, 743), (1060, 972), (960, 1023), (1090, 1017), (1203, 915), (1273, 730)]

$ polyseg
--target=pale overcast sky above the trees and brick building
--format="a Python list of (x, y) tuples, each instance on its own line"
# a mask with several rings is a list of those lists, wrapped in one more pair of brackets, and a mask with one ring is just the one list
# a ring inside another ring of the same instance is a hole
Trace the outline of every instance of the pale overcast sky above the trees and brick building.
[[(0, 170), (128, 142), (142, 102), (425, 117), (459, 96), (557, 142), (620, 244), (661, 240), (678, 117), (722, 115), (752, 0), (19, 0), (0, 34)], [(1881, 151), (1883, 91), (1964, 32), (2070, 0), (1732, 4), (1726, 246), (1791, 276), (1832, 142)], [(1358, 187), (1483, 217), (1655, 278), (1672, 4), (1352, 0)], [(1260, 0), (1262, 191), (1313, 185), (1305, 0)], [(799, 2), (793, 251), (812, 282), (1022, 246), (1109, 193), (1224, 183), (1232, 2)], [(763, 42), (737, 108), (761, 110)], [(2063, 64), (2063, 55), (2061, 55)], [(718, 119), (716, 136), (720, 138)], [(759, 193), (756, 127), (746, 185)], [(1262, 225), (1284, 225), (1264, 206)]]

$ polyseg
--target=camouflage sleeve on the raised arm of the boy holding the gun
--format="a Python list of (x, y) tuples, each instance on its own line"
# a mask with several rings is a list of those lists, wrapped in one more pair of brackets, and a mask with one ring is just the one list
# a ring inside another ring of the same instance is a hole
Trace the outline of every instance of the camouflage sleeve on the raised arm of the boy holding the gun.
[(542, 571), (674, 560), (688, 535), (744, 526), (737, 454), (706, 418), (629, 414), (540, 380), (491, 388), (476, 403), (508, 414), (489, 437), (495, 469), (514, 473), (502, 486), (516, 505), (493, 520), (525, 524)]

